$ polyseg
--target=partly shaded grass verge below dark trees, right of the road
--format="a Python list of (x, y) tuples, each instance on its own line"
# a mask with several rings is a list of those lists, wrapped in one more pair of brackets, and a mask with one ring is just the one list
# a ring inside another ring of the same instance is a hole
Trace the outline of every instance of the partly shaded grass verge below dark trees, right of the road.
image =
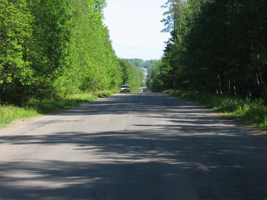
[(267, 105), (262, 99), (249, 99), (186, 90), (167, 90), (164, 93), (201, 103), (218, 113), (232, 115), (237, 120), (267, 129)]

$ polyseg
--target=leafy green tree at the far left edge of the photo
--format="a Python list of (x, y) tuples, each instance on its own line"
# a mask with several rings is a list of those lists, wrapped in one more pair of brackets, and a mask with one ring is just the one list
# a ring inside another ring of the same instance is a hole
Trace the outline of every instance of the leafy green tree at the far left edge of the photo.
[(0, 99), (17, 103), (33, 81), (34, 70), (27, 59), (33, 16), (26, 0), (3, 0), (0, 7)]

